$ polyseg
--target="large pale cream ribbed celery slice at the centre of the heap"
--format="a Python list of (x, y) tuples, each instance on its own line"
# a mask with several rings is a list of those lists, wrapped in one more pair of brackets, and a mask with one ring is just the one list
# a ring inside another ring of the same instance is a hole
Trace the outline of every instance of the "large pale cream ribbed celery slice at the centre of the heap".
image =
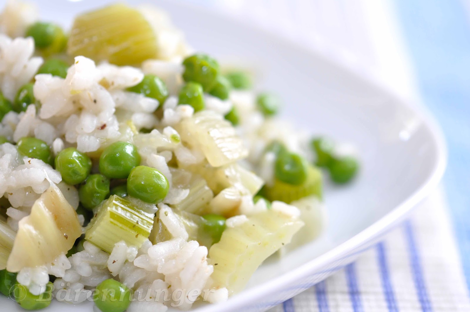
[(212, 111), (200, 111), (184, 119), (177, 130), (181, 139), (200, 149), (213, 167), (233, 163), (248, 155), (232, 124)]

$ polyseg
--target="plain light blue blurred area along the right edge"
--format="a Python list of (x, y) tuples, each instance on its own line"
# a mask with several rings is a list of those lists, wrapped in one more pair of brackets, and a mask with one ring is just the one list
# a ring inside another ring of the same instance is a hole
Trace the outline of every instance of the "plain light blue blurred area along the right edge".
[(394, 0), (425, 104), (447, 140), (444, 175), (470, 290), (470, 25), (462, 0)]

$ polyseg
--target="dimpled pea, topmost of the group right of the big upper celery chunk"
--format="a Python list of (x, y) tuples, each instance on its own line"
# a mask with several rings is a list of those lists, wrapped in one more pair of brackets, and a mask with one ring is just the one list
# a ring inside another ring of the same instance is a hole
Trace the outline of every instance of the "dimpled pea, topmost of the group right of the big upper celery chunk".
[(204, 90), (211, 90), (216, 84), (220, 71), (219, 63), (209, 55), (191, 55), (183, 61), (183, 66), (183, 79), (186, 82), (200, 83)]

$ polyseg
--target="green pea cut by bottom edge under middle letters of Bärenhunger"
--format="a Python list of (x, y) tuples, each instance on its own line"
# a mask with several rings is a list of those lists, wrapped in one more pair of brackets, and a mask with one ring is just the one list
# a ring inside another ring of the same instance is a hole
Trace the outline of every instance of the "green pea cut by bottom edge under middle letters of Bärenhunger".
[(132, 300), (132, 290), (119, 281), (108, 279), (96, 286), (94, 304), (102, 312), (124, 312)]

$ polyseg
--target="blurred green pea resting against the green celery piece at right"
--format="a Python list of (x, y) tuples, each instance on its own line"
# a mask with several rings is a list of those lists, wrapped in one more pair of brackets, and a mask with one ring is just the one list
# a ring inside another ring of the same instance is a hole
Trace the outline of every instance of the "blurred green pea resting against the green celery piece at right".
[(282, 153), (276, 159), (274, 175), (284, 183), (299, 185), (307, 179), (307, 168), (308, 164), (302, 156)]

